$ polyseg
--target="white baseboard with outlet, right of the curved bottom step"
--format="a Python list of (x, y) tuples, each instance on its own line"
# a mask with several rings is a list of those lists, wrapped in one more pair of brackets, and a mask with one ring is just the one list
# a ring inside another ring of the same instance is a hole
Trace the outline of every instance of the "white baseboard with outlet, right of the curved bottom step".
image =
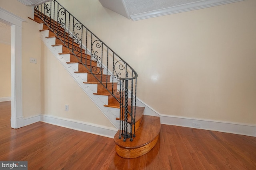
[[(220, 122), (213, 120), (191, 119), (186, 117), (174, 117), (170, 115), (160, 115), (160, 121), (166, 125), (176, 125), (210, 131), (234, 133), (256, 137), (256, 125), (241, 124), (235, 122)], [(200, 128), (193, 127), (193, 123), (200, 123)]]

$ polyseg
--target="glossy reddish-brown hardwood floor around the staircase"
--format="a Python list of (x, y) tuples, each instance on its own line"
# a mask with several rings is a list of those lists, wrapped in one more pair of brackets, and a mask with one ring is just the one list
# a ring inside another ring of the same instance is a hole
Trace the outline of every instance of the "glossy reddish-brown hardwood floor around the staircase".
[(11, 129), (10, 110), (0, 102), (0, 160), (29, 170), (256, 170), (256, 137), (161, 125), (150, 152), (124, 159), (107, 137), (42, 122)]

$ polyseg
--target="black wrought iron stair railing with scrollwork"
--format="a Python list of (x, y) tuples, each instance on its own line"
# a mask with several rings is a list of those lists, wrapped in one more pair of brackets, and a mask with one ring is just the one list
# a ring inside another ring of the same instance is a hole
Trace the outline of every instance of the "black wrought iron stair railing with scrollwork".
[[(56, 0), (36, 6), (35, 14), (120, 103), (119, 138), (132, 141), (135, 137), (136, 71)], [(131, 121), (128, 122), (129, 116)]]

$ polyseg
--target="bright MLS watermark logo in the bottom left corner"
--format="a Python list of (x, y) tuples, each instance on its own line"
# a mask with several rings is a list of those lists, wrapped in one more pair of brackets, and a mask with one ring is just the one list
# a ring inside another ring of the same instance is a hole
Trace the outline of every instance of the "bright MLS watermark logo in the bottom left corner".
[(0, 170), (28, 170), (28, 161), (0, 161)]

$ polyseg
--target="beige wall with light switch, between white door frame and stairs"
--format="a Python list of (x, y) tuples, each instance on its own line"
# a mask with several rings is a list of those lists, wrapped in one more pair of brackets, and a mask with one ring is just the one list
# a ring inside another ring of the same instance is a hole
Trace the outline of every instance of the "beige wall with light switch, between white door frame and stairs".
[[(40, 114), (41, 40), (38, 24), (28, 19), (32, 17), (32, 7), (17, 0), (0, 0), (0, 6), (26, 20), (22, 23), (22, 112), (24, 118)], [(36, 58), (37, 64), (30, 63), (30, 57)]]

